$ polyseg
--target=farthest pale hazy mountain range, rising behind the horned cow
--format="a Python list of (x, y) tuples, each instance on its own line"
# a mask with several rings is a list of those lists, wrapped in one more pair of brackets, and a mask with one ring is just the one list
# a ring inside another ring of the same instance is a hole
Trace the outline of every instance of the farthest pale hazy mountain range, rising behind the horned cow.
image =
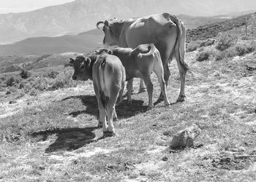
[[(110, 17), (123, 19), (161, 12), (175, 15), (213, 15), (217, 10), (222, 12), (221, 9), (230, 12), (234, 4), (241, 4), (241, 8), (248, 7), (248, 2), (241, 0), (233, 0), (232, 4), (222, 0), (76, 0), (31, 12), (0, 15), (0, 43), (20, 41), (34, 36), (61, 36), (89, 31), (95, 28), (97, 21)], [(193, 26), (190, 27), (190, 23), (191, 21), (187, 22), (189, 29), (197, 25), (192, 23)]]

